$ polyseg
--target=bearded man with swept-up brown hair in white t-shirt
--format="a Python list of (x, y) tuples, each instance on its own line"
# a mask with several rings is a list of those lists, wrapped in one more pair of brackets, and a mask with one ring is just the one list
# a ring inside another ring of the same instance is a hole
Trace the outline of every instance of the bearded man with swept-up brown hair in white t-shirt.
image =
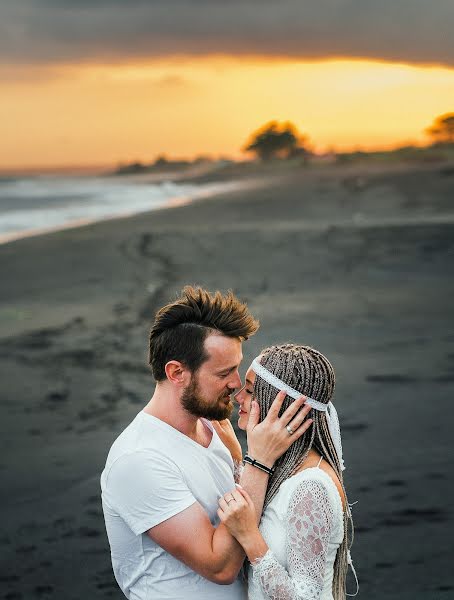
[[(156, 314), (150, 333), (155, 392), (112, 445), (101, 476), (112, 565), (130, 599), (245, 597), (238, 578), (244, 552), (219, 525), (217, 508), (218, 498), (234, 488), (234, 459), (241, 461), (226, 419), (230, 396), (241, 387), (242, 341), (257, 328), (232, 293), (201, 288), (184, 288)], [(248, 426), (249, 454), (268, 467), (300, 433), (289, 439), (278, 418), (280, 396), (261, 424), (255, 405)], [(293, 405), (296, 413), (302, 401)], [(301, 422), (306, 413), (300, 411)], [(241, 485), (257, 515), (267, 481), (265, 471), (245, 466)]]

